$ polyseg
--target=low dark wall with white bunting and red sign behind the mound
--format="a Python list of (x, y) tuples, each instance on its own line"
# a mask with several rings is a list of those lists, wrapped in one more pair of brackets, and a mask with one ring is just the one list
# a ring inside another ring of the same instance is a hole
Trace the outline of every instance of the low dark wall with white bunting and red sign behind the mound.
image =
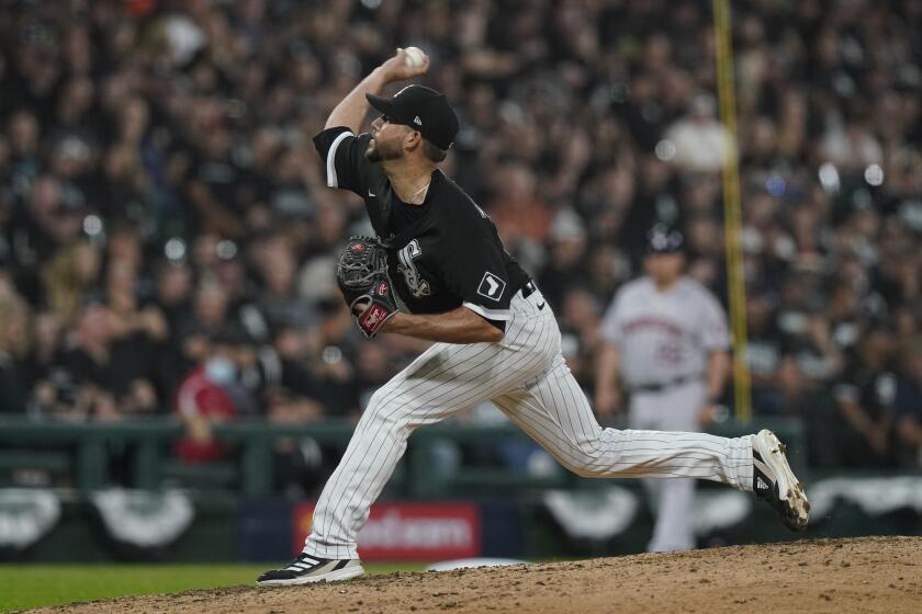
[[(820, 509), (805, 534), (788, 533), (767, 507), (747, 494), (702, 488), (696, 503), (699, 545), (922, 535), (922, 478), (857, 479), (856, 484), (854, 477), (830, 477), (808, 487)], [(101, 503), (99, 497), (0, 490), (0, 559), (280, 561), (297, 550), (313, 505), (279, 498), (105, 493), (109, 501)], [(359, 549), (368, 560), (381, 561), (638, 553), (643, 552), (652, 531), (641, 494), (638, 484), (623, 481), (515, 499), (387, 500), (373, 509)], [(36, 501), (48, 496), (56, 498), (58, 505), (50, 516), (47, 501)], [(185, 499), (188, 509), (177, 502), (177, 496)], [(170, 498), (173, 500), (167, 501)], [(33, 522), (40, 516), (45, 519), (41, 526)]]

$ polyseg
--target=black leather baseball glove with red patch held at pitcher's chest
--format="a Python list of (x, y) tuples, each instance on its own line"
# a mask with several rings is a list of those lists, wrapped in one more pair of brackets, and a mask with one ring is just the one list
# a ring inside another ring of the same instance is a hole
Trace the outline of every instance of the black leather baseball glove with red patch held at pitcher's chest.
[(387, 254), (373, 237), (350, 237), (336, 265), (336, 282), (362, 334), (373, 339), (397, 312)]

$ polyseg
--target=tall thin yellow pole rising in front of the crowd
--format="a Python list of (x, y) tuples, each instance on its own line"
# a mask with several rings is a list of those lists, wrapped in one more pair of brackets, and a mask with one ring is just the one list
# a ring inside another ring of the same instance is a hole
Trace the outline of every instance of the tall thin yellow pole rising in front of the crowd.
[(752, 418), (750, 372), (746, 364), (746, 291), (743, 272), (740, 166), (737, 136), (737, 96), (733, 83), (733, 45), (730, 36), (730, 0), (713, 0), (713, 32), (717, 38), (717, 92), (720, 121), (733, 141), (723, 163), (723, 219), (727, 243), (730, 326), (733, 333), (733, 401), (737, 420)]

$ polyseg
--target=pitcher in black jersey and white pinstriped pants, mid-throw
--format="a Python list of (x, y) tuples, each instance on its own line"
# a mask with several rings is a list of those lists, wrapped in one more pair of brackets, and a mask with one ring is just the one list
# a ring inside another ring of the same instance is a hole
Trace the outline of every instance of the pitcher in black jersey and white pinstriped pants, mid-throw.
[[(760, 435), (599, 427), (561, 355), (550, 306), (505, 252), (490, 217), (420, 152), (420, 138), (441, 149), (454, 138), (458, 124), (445, 98), (418, 86), (393, 98), (373, 95), (390, 82), (418, 76), (428, 64), (415, 72), (405, 66), (398, 50), (366, 77), (334, 110), (315, 144), (328, 184), (362, 197), (374, 230), (391, 246), (390, 276), (408, 314), (395, 314), (381, 331), (438, 342), (372, 395), (321, 493), (303, 554), (258, 582), (301, 584), (362, 573), (356, 538), (407, 437), (487, 400), (580, 475), (698, 477), (752, 490)], [(369, 134), (355, 134), (369, 102), (383, 114), (372, 124), (373, 143)], [(384, 159), (371, 161), (368, 145)], [(426, 195), (411, 204), (414, 191)], [(439, 341), (465, 334), (488, 341)], [(787, 467), (777, 456), (776, 468), (765, 467), (773, 485)], [(778, 504), (787, 504), (783, 499)]]

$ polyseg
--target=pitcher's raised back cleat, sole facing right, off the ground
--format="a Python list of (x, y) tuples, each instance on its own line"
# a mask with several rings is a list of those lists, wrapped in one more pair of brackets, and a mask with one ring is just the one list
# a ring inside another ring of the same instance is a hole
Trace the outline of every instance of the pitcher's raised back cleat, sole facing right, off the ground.
[(752, 490), (778, 512), (785, 526), (803, 531), (810, 519), (810, 502), (785, 452), (785, 445), (767, 429), (752, 439)]

